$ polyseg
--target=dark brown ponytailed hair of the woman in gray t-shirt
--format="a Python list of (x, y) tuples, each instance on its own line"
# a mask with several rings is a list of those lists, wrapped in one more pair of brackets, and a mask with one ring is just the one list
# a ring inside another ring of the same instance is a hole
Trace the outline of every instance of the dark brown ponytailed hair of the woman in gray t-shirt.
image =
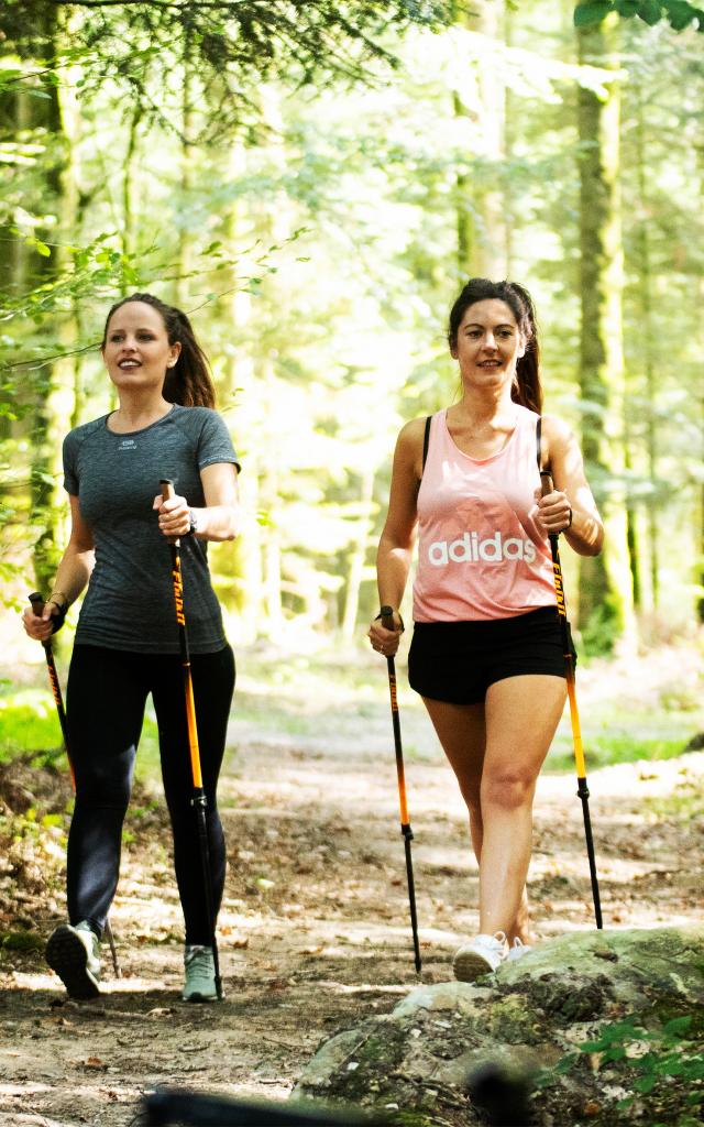
[(167, 305), (151, 293), (133, 293), (128, 298), (123, 298), (122, 301), (115, 302), (107, 314), (100, 347), (105, 348), (110, 318), (128, 301), (142, 301), (155, 309), (163, 321), (169, 344), (178, 343), (181, 346), (176, 364), (167, 370), (163, 398), (170, 403), (180, 403), (181, 407), (214, 407), (215, 388), (207, 357), (196, 340), (186, 313), (175, 305)]

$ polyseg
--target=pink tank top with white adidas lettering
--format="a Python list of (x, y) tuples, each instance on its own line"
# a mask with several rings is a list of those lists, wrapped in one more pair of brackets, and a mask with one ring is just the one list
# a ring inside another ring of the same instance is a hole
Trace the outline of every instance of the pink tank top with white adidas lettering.
[(514, 403), (516, 428), (499, 454), (463, 454), (446, 411), (430, 423), (418, 492), (416, 622), (508, 619), (555, 605), (547, 536), (535, 523), (538, 416)]

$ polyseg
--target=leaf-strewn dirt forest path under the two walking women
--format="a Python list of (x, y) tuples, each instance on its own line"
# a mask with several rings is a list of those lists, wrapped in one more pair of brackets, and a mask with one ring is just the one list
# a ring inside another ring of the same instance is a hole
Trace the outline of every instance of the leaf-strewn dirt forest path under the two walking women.
[[(1, 1127), (127, 1127), (159, 1084), (283, 1100), (321, 1040), (417, 985), (383, 699), (360, 708), (331, 691), (318, 703), (315, 735), (268, 729), (266, 696), (259, 703), (259, 722), (252, 710), (233, 720), (222, 784), (225, 1001), (178, 1001), (168, 832), (160, 809), (137, 810), (112, 915), (124, 977), (108, 973), (104, 995), (77, 1004), (39, 951), (3, 952)], [(408, 709), (402, 725), (422, 978), (440, 982), (474, 930), (476, 868), (427, 721)], [(689, 818), (681, 809), (701, 793), (704, 754), (607, 767), (589, 782), (605, 925), (694, 922), (704, 824), (701, 804)], [(594, 926), (572, 775), (541, 779), (529, 879), (540, 938)], [(18, 898), (16, 911), (34, 913), (45, 934), (62, 915), (60, 895), (48, 908), (30, 890)], [(109, 971), (107, 949), (104, 959)]]

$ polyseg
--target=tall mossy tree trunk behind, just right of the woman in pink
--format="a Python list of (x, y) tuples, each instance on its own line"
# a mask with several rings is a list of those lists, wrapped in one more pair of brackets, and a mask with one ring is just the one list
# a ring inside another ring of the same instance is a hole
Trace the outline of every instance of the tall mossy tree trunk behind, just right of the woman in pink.
[[(580, 63), (614, 69), (606, 25), (580, 28)], [(604, 551), (580, 557), (579, 622), (591, 644), (609, 650), (633, 640), (624, 470), (623, 248), (618, 192), (617, 81), (605, 101), (579, 89), (581, 332), (579, 378), (582, 449), (606, 527)]]

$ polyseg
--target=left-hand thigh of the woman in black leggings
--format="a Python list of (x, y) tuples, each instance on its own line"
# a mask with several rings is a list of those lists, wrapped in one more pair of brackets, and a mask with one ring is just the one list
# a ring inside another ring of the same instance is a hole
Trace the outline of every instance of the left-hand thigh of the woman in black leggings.
[(148, 692), (134, 655), (74, 646), (66, 720), (79, 795), (90, 797), (106, 787), (128, 793)]

